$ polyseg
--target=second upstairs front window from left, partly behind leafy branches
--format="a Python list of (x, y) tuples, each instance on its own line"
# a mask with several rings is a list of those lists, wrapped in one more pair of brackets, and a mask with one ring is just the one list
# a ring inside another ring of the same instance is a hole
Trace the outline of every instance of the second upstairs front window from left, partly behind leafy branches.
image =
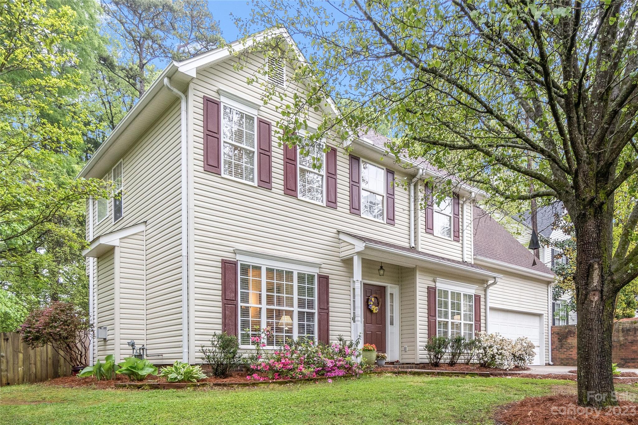
[[(320, 143), (299, 152), (299, 198), (323, 204), (325, 155)], [(307, 154), (307, 155), (306, 155)]]

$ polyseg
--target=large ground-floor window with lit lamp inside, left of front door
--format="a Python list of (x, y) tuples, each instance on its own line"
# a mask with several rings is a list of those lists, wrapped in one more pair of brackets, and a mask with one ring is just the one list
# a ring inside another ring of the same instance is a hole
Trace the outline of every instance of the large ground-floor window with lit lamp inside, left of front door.
[(289, 338), (316, 340), (316, 274), (258, 264), (239, 264), (241, 345), (270, 328), (267, 347)]

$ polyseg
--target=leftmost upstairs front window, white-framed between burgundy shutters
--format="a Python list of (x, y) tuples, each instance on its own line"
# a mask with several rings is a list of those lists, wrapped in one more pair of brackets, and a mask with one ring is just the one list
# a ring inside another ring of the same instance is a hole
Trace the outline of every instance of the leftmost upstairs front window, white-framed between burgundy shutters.
[(255, 117), (223, 105), (223, 173), (255, 183)]

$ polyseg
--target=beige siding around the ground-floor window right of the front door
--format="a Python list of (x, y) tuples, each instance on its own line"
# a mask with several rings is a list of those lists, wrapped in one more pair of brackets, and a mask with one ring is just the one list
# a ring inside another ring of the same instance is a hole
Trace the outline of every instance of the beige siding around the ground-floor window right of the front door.
[[(461, 282), (463, 284), (476, 285), (474, 294), (481, 297), (481, 330), (485, 330), (485, 286), (486, 281), (480, 280), (480, 278), (467, 278), (454, 273), (448, 273), (445, 271), (427, 270), (425, 268), (417, 268), (417, 302), (419, 303), (419, 311), (417, 312), (419, 327), (419, 341), (418, 341), (418, 361), (419, 363), (427, 362), (427, 352), (423, 347), (427, 343), (427, 287), (436, 287), (434, 278), (441, 278), (445, 280), (452, 280), (453, 282)], [(491, 293), (490, 293), (491, 296)]]

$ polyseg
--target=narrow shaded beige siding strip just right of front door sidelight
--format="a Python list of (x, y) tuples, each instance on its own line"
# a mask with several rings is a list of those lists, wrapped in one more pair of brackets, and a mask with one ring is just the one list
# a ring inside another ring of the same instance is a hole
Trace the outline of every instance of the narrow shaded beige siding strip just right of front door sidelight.
[[(401, 329), (399, 338), (399, 356), (403, 363), (414, 363), (416, 347), (416, 268), (401, 268), (401, 286), (399, 287), (401, 300)], [(403, 347), (408, 347), (403, 351)]]

